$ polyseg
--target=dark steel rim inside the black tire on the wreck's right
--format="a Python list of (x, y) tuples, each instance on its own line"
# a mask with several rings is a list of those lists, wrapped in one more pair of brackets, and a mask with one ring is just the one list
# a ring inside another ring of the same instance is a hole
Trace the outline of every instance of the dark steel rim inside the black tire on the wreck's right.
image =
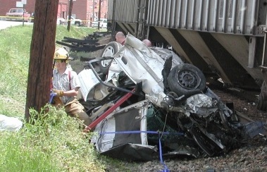
[(178, 73), (178, 84), (187, 90), (193, 90), (199, 87), (200, 78), (197, 73), (191, 70), (180, 70)]

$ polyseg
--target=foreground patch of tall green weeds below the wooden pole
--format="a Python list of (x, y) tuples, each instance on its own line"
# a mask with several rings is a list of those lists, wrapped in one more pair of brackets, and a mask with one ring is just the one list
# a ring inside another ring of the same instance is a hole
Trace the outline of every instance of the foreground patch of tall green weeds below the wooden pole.
[(31, 116), (19, 132), (1, 133), (1, 170), (104, 171), (80, 121), (49, 105), (40, 114), (31, 109)]

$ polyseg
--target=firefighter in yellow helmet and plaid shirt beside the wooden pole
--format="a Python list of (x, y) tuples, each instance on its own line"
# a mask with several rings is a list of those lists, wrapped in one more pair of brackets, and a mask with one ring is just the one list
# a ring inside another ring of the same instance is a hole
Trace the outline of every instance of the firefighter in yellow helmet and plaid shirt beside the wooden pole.
[(92, 120), (85, 113), (84, 106), (75, 98), (80, 88), (80, 81), (77, 78), (77, 73), (67, 67), (68, 58), (69, 55), (66, 49), (56, 49), (54, 53), (55, 68), (52, 79), (53, 91), (56, 93), (56, 97), (61, 99), (61, 105), (65, 107), (66, 113), (69, 116), (80, 119), (88, 126), (92, 123)]

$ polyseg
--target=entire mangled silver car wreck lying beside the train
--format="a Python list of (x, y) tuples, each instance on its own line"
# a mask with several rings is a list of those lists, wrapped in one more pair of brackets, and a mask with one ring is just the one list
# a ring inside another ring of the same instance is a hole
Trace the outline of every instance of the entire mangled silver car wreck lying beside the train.
[(240, 123), (206, 86), (201, 70), (130, 34), (124, 46), (107, 44), (101, 59), (88, 66), (78, 75), (80, 91), (95, 120), (89, 129), (98, 133), (91, 142), (101, 154), (134, 161), (149, 161), (158, 152), (217, 156), (265, 132), (261, 122)]

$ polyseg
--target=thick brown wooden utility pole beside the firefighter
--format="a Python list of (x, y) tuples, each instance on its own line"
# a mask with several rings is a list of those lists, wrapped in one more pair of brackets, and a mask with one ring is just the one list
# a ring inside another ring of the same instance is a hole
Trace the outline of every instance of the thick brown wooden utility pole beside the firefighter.
[(27, 78), (26, 121), (30, 119), (30, 108), (40, 111), (49, 102), (57, 13), (58, 0), (35, 1), (35, 23)]

